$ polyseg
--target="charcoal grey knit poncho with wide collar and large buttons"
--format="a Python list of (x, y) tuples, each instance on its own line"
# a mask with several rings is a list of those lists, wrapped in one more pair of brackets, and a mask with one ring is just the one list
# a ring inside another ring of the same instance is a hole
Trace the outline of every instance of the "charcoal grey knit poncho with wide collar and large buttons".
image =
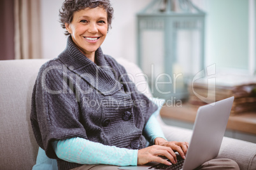
[[(96, 64), (97, 63), (97, 64)], [(66, 49), (39, 70), (32, 93), (31, 124), (38, 145), (59, 169), (79, 164), (60, 160), (52, 141), (85, 138), (120, 148), (144, 148), (143, 128), (157, 110), (136, 90), (113, 58), (96, 51), (96, 63), (76, 48), (71, 36)]]

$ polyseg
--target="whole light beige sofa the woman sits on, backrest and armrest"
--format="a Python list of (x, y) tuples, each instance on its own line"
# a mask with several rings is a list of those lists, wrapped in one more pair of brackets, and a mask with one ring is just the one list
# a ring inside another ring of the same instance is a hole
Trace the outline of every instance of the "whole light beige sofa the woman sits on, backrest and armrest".
[[(124, 65), (134, 81), (145, 81), (141, 70), (131, 62), (117, 59)], [(0, 61), (0, 169), (32, 169), (36, 162), (38, 145), (34, 139), (31, 123), (31, 93), (39, 67), (46, 60)], [(145, 83), (139, 91), (150, 93)], [(145, 91), (145, 89), (147, 89)], [(162, 129), (168, 140), (189, 141), (191, 131), (162, 122)], [(201, 152), (200, 150), (198, 152)], [(224, 138), (218, 157), (236, 160), (240, 169), (256, 169), (256, 144), (231, 138)]]

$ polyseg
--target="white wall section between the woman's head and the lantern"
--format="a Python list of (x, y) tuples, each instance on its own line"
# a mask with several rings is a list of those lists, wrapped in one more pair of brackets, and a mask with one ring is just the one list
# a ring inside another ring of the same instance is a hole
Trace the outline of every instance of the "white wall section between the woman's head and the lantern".
[(104, 53), (136, 63), (136, 13), (152, 0), (112, 0), (115, 10), (112, 29), (103, 43)]

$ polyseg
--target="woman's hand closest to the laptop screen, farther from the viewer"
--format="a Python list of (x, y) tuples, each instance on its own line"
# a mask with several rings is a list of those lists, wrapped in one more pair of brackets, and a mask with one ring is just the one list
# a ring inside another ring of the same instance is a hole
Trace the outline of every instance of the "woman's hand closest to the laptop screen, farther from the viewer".
[(178, 152), (183, 159), (185, 159), (188, 150), (187, 141), (167, 141), (164, 138), (155, 138), (155, 145), (170, 147), (174, 152)]

